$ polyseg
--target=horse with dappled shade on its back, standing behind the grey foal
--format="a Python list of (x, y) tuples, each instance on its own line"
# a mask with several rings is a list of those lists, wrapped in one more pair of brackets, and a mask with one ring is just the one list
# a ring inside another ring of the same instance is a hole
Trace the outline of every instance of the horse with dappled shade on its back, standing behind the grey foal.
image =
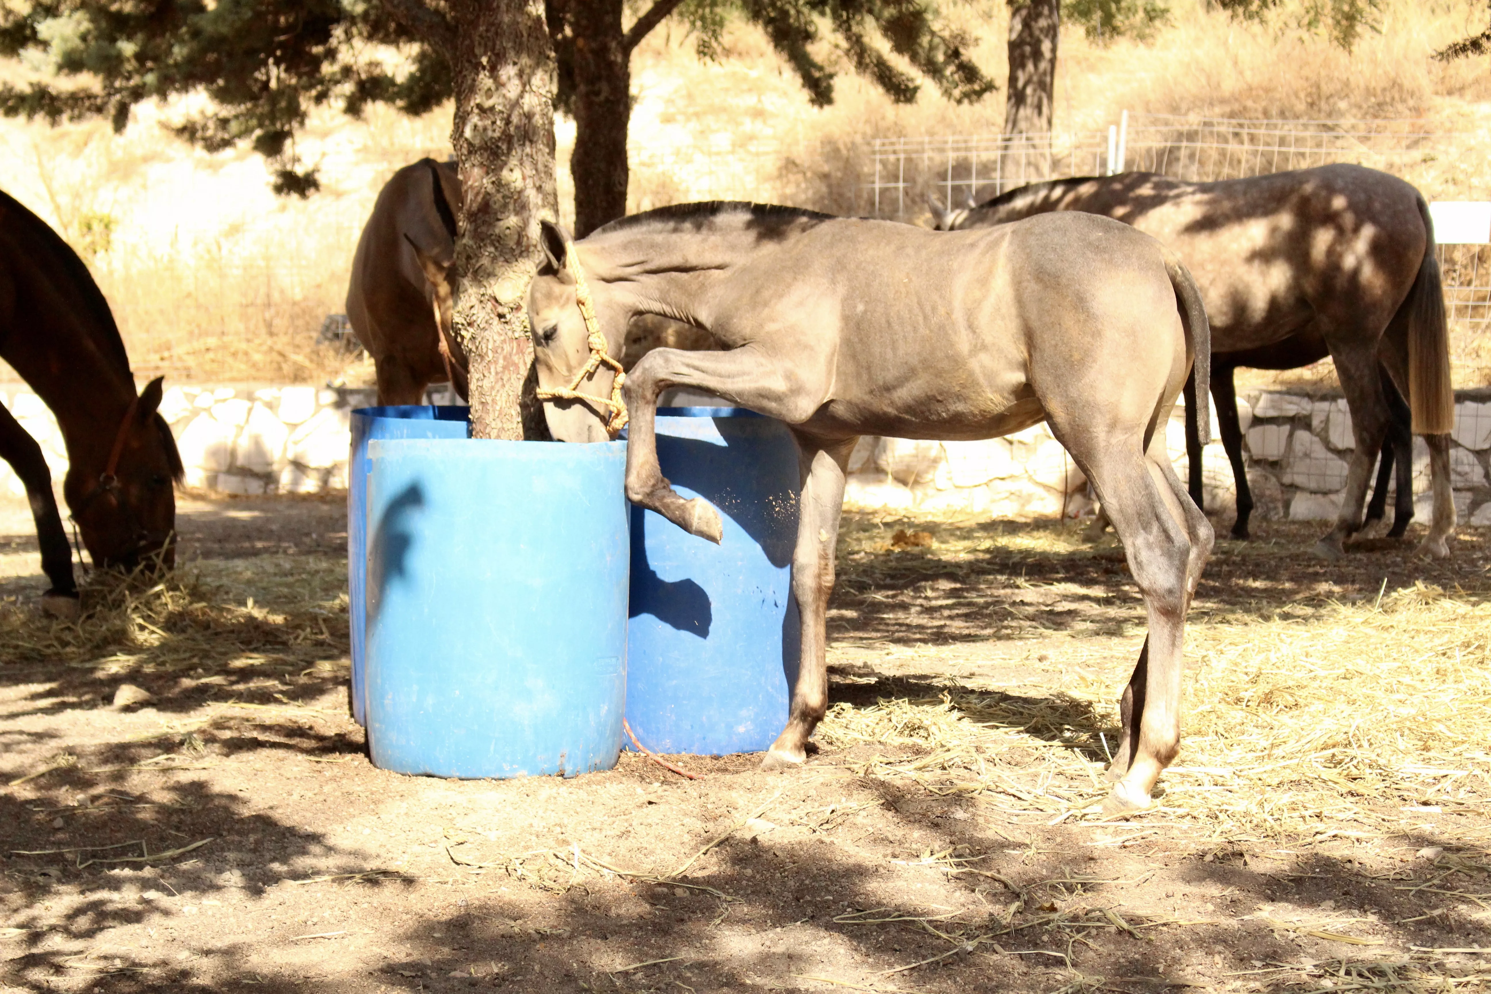
[[(980, 207), (939, 212), (942, 229), (999, 225), (1053, 210), (1079, 210), (1130, 224), (1172, 247), (1196, 273), (1212, 325), (1211, 390), (1223, 444), (1238, 481), (1238, 525), (1248, 534), (1252, 498), (1242, 465), (1242, 432), (1232, 371), (1239, 365), (1288, 370), (1323, 359), (1351, 408), (1355, 452), (1336, 526), (1320, 550), (1339, 556), (1363, 526), (1372, 462), (1384, 440), (1399, 463), (1399, 520), (1412, 513), (1410, 447), (1391, 431), (1394, 401), (1379, 364), (1408, 396), (1412, 431), (1430, 450), (1434, 514), (1421, 551), (1448, 556), (1455, 528), (1449, 484), (1454, 395), (1445, 300), (1434, 259), (1428, 204), (1403, 180), (1361, 165), (1321, 165), (1218, 183), (1153, 173), (1063, 179), (1012, 189)], [(1191, 493), (1200, 486), (1200, 447), (1191, 456)], [(1384, 456), (1387, 462), (1387, 456)], [(1385, 478), (1388, 466), (1384, 466)], [(1382, 492), (1379, 483), (1381, 505)], [(1406, 510), (1405, 510), (1406, 505)]]

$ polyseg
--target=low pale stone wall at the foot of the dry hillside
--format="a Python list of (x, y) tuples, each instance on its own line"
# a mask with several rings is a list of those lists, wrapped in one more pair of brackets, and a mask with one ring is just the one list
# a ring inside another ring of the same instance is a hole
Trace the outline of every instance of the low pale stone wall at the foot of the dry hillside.
[[(1485, 393), (1485, 395), (1482, 395)], [(453, 402), (446, 387), (428, 399)], [(55, 481), (67, 455), (51, 411), (28, 387), (0, 384), (3, 402), (42, 444)], [(310, 493), (346, 487), (349, 420), (376, 402), (370, 389), (312, 386), (173, 386), (161, 401), (186, 463), (186, 484), (224, 493)], [(692, 398), (678, 402), (707, 402)], [(1331, 519), (1340, 507), (1354, 438), (1340, 398), (1254, 390), (1238, 401), (1248, 481), (1263, 519)], [(1215, 425), (1212, 411), (1212, 425)], [(1185, 477), (1181, 408), (1166, 425)], [(1460, 520), (1491, 525), (1491, 393), (1455, 407), (1451, 471)], [(1232, 469), (1220, 441), (1206, 449), (1206, 505), (1230, 510)], [(1427, 520), (1428, 450), (1413, 440), (1416, 516)], [(24, 493), (0, 463), (0, 487)], [(989, 441), (862, 438), (850, 459), (845, 504), (862, 510), (1078, 517), (1093, 511), (1087, 480), (1045, 425)]]

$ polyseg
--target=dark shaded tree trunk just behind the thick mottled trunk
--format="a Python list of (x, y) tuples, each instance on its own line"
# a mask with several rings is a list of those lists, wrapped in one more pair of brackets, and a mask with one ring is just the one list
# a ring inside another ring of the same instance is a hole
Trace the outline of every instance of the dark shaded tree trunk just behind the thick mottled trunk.
[(631, 49), (622, 31), (622, 0), (570, 6), (574, 37), (574, 235), (583, 238), (626, 213), (626, 125)]

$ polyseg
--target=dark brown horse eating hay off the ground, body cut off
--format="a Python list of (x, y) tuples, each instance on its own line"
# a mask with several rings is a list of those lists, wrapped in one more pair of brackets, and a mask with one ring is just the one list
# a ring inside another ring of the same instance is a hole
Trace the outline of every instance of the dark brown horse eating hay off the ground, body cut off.
[[(174, 563), (182, 460), (157, 413), (161, 379), (134, 393), (130, 358), (88, 267), (46, 222), (0, 192), (0, 359), (57, 416), (67, 446), (63, 495), (100, 566)], [(25, 484), (52, 587), (48, 611), (76, 615), (72, 550), (42, 449), (0, 407), (0, 458)]]

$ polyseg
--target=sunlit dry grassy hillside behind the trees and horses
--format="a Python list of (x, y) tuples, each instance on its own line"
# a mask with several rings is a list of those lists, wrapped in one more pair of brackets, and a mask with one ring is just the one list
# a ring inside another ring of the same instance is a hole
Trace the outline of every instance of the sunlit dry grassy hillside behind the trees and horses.
[[(981, 64), (1005, 76), (1006, 9), (956, 13)], [(1056, 131), (1097, 131), (1133, 113), (1246, 119), (1415, 119), (1443, 136), (1410, 176), (1431, 198), (1487, 198), (1491, 64), (1430, 54), (1478, 31), (1472, 0), (1384, 0), (1379, 30), (1348, 54), (1297, 27), (1287, 0), (1266, 24), (1173, 0), (1148, 40), (1102, 43), (1066, 28)], [(631, 209), (713, 197), (774, 200), (836, 213), (866, 210), (868, 140), (997, 133), (1003, 95), (954, 107), (935, 92), (893, 106), (853, 76), (813, 109), (750, 28), (729, 34), (722, 63), (665, 25), (634, 57)], [(370, 382), (367, 364), (315, 344), (343, 310), (347, 265), (380, 185), (422, 155), (449, 155), (449, 107), (409, 119), (385, 109), (350, 122), (327, 112), (300, 142), (324, 191), (276, 198), (249, 151), (207, 155), (161, 127), (173, 109), (137, 112), (122, 136), (106, 124), (0, 121), (7, 192), (67, 237), (113, 304), (139, 374), (194, 382)], [(574, 127), (559, 122), (561, 203), (568, 212)], [(1470, 383), (1461, 383), (1470, 386)]]

